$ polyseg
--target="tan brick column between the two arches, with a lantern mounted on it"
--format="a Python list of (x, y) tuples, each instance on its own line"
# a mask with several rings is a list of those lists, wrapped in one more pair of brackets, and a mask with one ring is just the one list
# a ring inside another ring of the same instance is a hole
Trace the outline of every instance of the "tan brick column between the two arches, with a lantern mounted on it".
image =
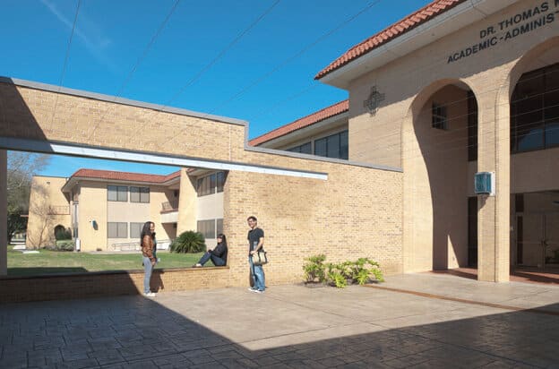
[(477, 279), (506, 282), (511, 249), (510, 107), (508, 94), (502, 94), (504, 101), (491, 99), (492, 93), (481, 95), (477, 171), (495, 172), (495, 196), (477, 199)]

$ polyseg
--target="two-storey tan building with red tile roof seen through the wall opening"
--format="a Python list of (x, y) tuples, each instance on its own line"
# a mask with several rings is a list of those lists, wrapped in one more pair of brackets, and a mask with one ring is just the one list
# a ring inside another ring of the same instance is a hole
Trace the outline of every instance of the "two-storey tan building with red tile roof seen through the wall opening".
[(224, 183), (225, 172), (200, 169), (168, 176), (96, 169), (68, 178), (35, 176), (27, 246), (54, 245), (62, 228), (71, 231), (78, 251), (139, 250), (148, 220), (160, 249), (185, 230), (200, 231), (212, 246), (223, 231)]

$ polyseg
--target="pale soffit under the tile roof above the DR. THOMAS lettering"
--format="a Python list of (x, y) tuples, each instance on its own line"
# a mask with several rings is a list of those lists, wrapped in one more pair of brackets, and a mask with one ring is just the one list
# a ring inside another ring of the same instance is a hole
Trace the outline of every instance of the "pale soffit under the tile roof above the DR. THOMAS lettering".
[(421, 47), (426, 47), (437, 39), (442, 39), (452, 32), (480, 21), (489, 14), (498, 12), (517, 1), (469, 0), (459, 4), (451, 10), (435, 16), (433, 20), (417, 26), (415, 29), (396, 37), (396, 39), (392, 39), (381, 47), (377, 47), (363, 56), (358, 56), (348, 64), (326, 74), (319, 81), (347, 90), (349, 82), (358, 76), (374, 71), (374, 69), (406, 56)]

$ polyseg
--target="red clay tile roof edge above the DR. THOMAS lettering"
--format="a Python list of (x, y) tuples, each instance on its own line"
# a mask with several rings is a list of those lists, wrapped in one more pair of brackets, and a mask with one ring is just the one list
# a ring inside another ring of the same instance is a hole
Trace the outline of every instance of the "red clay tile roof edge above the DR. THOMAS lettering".
[(381, 47), (383, 44), (391, 41), (392, 39), (396, 39), (409, 30), (413, 30), (426, 21), (431, 21), (437, 15), (447, 12), (454, 6), (464, 3), (465, 1), (467, 0), (435, 0), (431, 4), (427, 4), (416, 13), (411, 13), (401, 21), (397, 21), (374, 36), (371, 36), (356, 46), (351, 47), (344, 55), (331, 62), (330, 65), (316, 74), (314, 79), (320, 80), (326, 74), (335, 71), (345, 64), (348, 64), (352, 60), (357, 59), (359, 56), (364, 56), (369, 51), (372, 51), (377, 47)]

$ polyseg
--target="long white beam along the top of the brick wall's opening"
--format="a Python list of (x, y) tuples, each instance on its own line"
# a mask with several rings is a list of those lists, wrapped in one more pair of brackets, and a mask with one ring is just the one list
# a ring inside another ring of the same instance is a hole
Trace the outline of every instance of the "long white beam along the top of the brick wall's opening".
[(150, 152), (100, 149), (90, 146), (77, 146), (64, 142), (43, 142), (22, 140), (10, 137), (0, 137), (0, 148), (5, 150), (42, 152), (46, 154), (69, 155), (84, 158), (133, 161), (138, 163), (159, 164), (172, 167), (201, 167), (213, 170), (234, 170), (240, 172), (251, 172), (276, 176), (296, 176), (321, 180), (328, 179), (328, 175), (326, 173), (319, 172), (281, 167), (258, 166), (252, 164), (217, 161), (211, 159), (165, 156)]

